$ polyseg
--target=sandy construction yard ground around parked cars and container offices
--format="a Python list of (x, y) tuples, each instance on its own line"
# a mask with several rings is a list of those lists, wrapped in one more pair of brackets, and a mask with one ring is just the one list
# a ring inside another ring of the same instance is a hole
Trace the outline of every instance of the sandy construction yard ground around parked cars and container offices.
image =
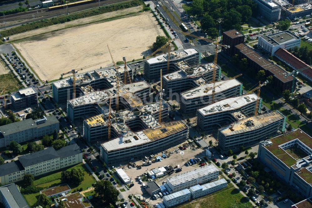
[[(168, 152), (174, 151), (177, 148), (178, 148), (178, 146), (172, 147), (172, 148), (168, 149), (167, 151)], [(161, 154), (158, 154), (158, 155), (160, 156)], [(160, 185), (162, 185), (162, 182), (166, 181), (166, 179), (168, 177), (178, 175), (178, 174), (181, 174), (181, 173), (186, 172), (186, 171), (191, 171), (191, 170), (199, 167), (198, 164), (187, 167), (184, 165), (184, 163), (187, 162), (190, 158), (195, 158), (195, 157), (196, 158), (198, 158), (198, 157), (202, 158), (204, 156), (205, 156), (205, 151), (202, 149), (196, 149), (195, 151), (193, 151), (192, 149), (187, 148), (186, 150), (181, 151), (179, 153), (174, 153), (173, 155), (170, 156), (170, 158), (163, 159), (161, 162), (152, 163), (152, 165), (149, 165), (149, 166), (143, 166), (142, 169), (137, 169), (137, 168), (130, 168), (129, 169), (127, 166), (124, 166), (124, 171), (134, 181), (134, 186), (129, 190), (129, 192), (131, 194), (138, 194), (138, 195), (142, 195), (146, 198), (149, 198), (150, 197), (149, 194), (145, 191), (143, 186), (141, 184), (139, 184), (139, 181), (136, 179), (137, 176), (144, 174), (144, 172), (147, 172), (147, 171), (152, 170), (154, 168), (158, 168), (158, 167), (162, 167), (162, 166), (168, 166), (168, 165), (175, 167), (176, 165), (180, 165), (180, 167), (182, 168), (181, 172), (179, 172), (179, 173), (174, 172), (170, 176), (169, 175), (164, 176), (162, 178), (155, 180), (157, 182), (157, 184), (160, 186)], [(142, 161), (135, 161), (135, 164), (140, 165), (140, 164), (142, 164)], [(150, 201), (150, 203), (156, 204), (157, 202), (160, 202), (160, 201), (153, 200), (153, 201)]]

